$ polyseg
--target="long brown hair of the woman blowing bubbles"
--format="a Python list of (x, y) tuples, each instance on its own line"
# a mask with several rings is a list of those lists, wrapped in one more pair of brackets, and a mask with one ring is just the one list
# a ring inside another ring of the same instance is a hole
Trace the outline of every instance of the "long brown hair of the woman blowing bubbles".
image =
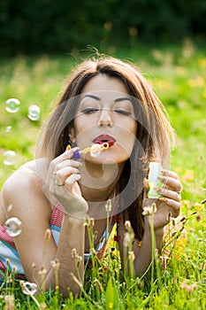
[(137, 66), (104, 56), (89, 58), (77, 66), (70, 74), (56, 108), (43, 128), (38, 157), (51, 160), (65, 151), (78, 107), (78, 95), (88, 81), (98, 74), (122, 81), (133, 98), (137, 121), (136, 142), (118, 185), (119, 192), (124, 192), (120, 199), (120, 209), (125, 210), (124, 214), (127, 213), (131, 221), (135, 236), (141, 240), (144, 232), (143, 179), (147, 176), (149, 161), (158, 160), (163, 167), (167, 167), (171, 145), (174, 143), (174, 131), (164, 105)]

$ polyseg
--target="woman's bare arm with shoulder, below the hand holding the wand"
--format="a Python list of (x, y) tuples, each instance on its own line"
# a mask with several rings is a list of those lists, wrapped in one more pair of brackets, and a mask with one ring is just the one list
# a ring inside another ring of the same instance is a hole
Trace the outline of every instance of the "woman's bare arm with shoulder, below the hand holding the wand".
[[(2, 200), (6, 218), (17, 217), (22, 221), (22, 231), (14, 237), (21, 263), (29, 282), (49, 290), (56, 287), (55, 270), (52, 260), (59, 260), (58, 285), (66, 296), (67, 288), (78, 293), (79, 287), (72, 281), (71, 273), (76, 274), (75, 262), (72, 260), (72, 248), (80, 256), (84, 255), (84, 221), (64, 216), (59, 244), (56, 246), (53, 236), (45, 238), (50, 229), (51, 208), (42, 192), (42, 186), (34, 174), (20, 169), (5, 182)], [(11, 211), (8, 206), (11, 205)], [(35, 265), (35, 267), (33, 267)], [(45, 276), (41, 271), (46, 270)], [(42, 278), (44, 281), (42, 283)], [(83, 278), (83, 260), (80, 262), (80, 278)]]

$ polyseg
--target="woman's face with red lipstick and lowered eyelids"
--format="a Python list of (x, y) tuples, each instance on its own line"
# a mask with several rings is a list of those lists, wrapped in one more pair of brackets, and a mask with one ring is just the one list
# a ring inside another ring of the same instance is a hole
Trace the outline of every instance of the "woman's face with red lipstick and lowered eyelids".
[(74, 119), (72, 138), (81, 149), (93, 143), (110, 143), (108, 150), (87, 160), (120, 164), (129, 158), (134, 147), (137, 123), (134, 106), (125, 85), (116, 78), (96, 75), (88, 81), (80, 95), (80, 105)]

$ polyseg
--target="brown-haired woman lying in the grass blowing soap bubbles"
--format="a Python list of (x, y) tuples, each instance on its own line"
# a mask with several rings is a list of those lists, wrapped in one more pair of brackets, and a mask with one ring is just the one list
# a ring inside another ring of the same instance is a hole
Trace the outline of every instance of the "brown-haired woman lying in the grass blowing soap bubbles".
[[(173, 139), (164, 108), (148, 82), (135, 66), (116, 58), (86, 60), (67, 81), (41, 137), (37, 159), (14, 172), (2, 190), (2, 268), (6, 254), (10, 254), (4, 248), (11, 246), (19, 255), (19, 274), (40, 286), (42, 272), (38, 271), (43, 267), (43, 286), (49, 290), (56, 284), (50, 261), (59, 260), (60, 291), (65, 296), (68, 288), (79, 293), (72, 278), (76, 275), (72, 249), (87, 260), (90, 246), (85, 221), (89, 216), (95, 218), (94, 229), (98, 231), (96, 252), (103, 252), (105, 205), (111, 198), (109, 230), (116, 215), (122, 267), (126, 268), (124, 223), (128, 220), (134, 230), (134, 272), (142, 275), (152, 258), (149, 216), (142, 214), (143, 206), (148, 205), (144, 180), (150, 161), (167, 168)], [(80, 155), (80, 150), (94, 143), (109, 147)], [(71, 147), (66, 150), (68, 144)], [(152, 200), (157, 209), (154, 231), (158, 250), (168, 214), (179, 215), (181, 190), (177, 175), (170, 170), (164, 169), (159, 180), (162, 188), (156, 192), (161, 197)], [(21, 233), (13, 238), (4, 229), (4, 222), (12, 217), (22, 222)], [(45, 241), (48, 229), (52, 234)], [(83, 279), (84, 260), (79, 272)]]

